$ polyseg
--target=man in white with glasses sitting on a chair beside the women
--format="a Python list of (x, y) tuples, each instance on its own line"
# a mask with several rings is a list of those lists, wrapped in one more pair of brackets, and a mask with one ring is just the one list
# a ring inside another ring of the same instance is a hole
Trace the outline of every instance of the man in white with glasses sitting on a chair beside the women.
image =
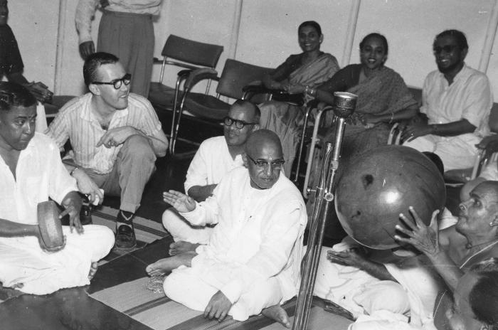
[(438, 70), (425, 78), (419, 122), (403, 132), (404, 145), (437, 154), (447, 171), (474, 166), (475, 145), (489, 135), (491, 86), (484, 73), (465, 64), (468, 50), (461, 31), (446, 30), (435, 37)]

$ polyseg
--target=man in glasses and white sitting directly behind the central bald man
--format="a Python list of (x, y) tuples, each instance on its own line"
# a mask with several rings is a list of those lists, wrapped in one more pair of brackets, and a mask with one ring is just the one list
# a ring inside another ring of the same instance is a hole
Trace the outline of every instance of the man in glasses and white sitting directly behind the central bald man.
[[(196, 202), (211, 196), (221, 178), (235, 167), (243, 165), (242, 154), (249, 134), (259, 129), (260, 110), (257, 105), (237, 100), (223, 120), (223, 137), (211, 137), (201, 143), (186, 174), (185, 192)], [(162, 215), (164, 228), (171, 233), (169, 255), (194, 251), (198, 244), (207, 244), (210, 226), (192, 226), (169, 208)]]

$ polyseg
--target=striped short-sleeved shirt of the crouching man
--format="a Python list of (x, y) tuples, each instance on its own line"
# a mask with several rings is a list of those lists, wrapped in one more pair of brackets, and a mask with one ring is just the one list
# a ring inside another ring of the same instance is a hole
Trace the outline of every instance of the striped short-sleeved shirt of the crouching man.
[[(55, 140), (60, 149), (69, 139), (74, 151), (74, 161), (78, 166), (98, 174), (107, 174), (112, 171), (122, 144), (110, 148), (104, 145), (96, 147), (107, 130), (100, 127), (97, 118), (90, 111), (91, 100), (92, 94), (88, 93), (65, 104), (48, 127), (48, 136)], [(123, 126), (134, 127), (148, 136), (154, 136), (161, 129), (161, 123), (150, 102), (133, 93), (129, 94), (128, 107), (115, 112), (108, 129)]]

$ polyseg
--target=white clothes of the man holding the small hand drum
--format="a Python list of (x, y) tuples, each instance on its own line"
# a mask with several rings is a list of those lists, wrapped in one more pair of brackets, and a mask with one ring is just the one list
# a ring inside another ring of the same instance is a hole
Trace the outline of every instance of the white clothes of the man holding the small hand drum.
[[(35, 133), (21, 151), (16, 178), (0, 157), (0, 218), (16, 223), (38, 223), (38, 203), (52, 198), (60, 203), (70, 191), (78, 191), (76, 181), (60, 161), (53, 140)], [(21, 291), (48, 294), (63, 287), (89, 284), (91, 262), (105, 257), (114, 244), (108, 228), (85, 226), (85, 233), (69, 233), (63, 250), (46, 253), (35, 237), (0, 238), (0, 282), (4, 287), (22, 283)]]

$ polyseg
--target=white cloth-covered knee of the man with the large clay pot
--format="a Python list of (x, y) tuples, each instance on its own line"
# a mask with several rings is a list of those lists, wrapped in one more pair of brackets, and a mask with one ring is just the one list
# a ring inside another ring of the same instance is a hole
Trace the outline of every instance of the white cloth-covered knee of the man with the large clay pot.
[(408, 294), (401, 284), (393, 281), (371, 284), (353, 299), (368, 314), (382, 309), (396, 314), (405, 314), (410, 310)]

